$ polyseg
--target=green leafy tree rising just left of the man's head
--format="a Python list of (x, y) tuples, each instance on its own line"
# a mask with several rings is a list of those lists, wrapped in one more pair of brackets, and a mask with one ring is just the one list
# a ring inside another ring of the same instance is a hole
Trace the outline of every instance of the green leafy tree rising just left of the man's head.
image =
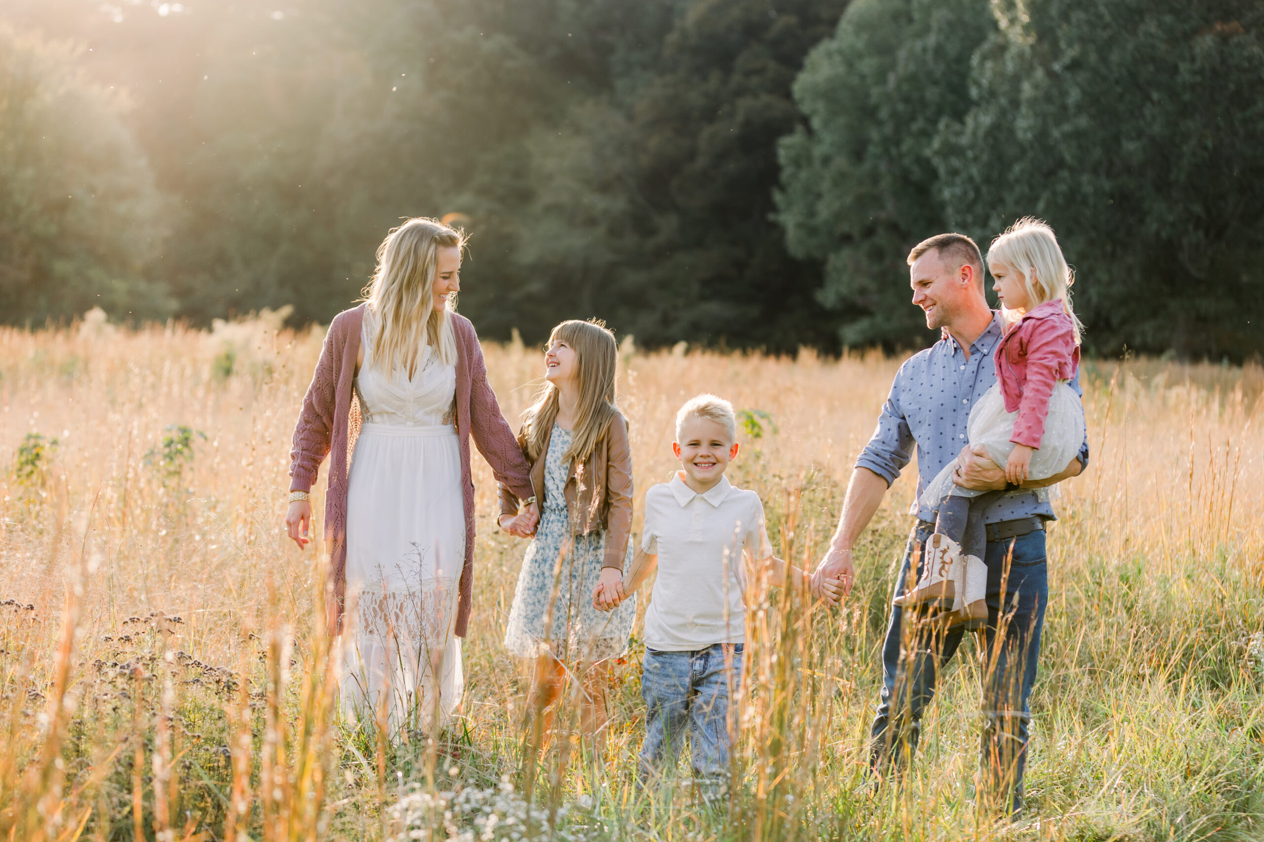
[(819, 299), (846, 345), (924, 345), (905, 255), (949, 227), (932, 144), (971, 106), (987, 0), (856, 0), (795, 82), (809, 126), (780, 145), (779, 220), (791, 254), (825, 265)]

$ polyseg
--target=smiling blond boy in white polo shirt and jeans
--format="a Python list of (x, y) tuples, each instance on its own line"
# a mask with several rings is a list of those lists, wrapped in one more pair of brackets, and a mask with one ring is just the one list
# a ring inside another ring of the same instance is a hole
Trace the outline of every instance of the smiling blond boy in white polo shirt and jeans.
[(752, 571), (770, 568), (774, 584), (785, 582), (787, 572), (805, 579), (772, 554), (758, 495), (724, 477), (737, 458), (736, 438), (727, 400), (698, 395), (680, 408), (671, 449), (681, 470), (646, 492), (641, 552), (619, 591), (598, 586), (593, 593), (597, 607), (611, 610), (659, 569), (645, 615), (642, 780), (675, 766), (688, 728), (695, 779), (724, 783), (729, 698), (741, 698), (746, 641), (743, 555)]

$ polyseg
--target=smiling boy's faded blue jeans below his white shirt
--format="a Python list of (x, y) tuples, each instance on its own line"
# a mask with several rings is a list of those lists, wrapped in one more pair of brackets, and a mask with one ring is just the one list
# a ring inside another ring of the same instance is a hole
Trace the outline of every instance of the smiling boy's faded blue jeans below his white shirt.
[(641, 780), (676, 765), (685, 730), (694, 778), (728, 778), (729, 698), (741, 698), (742, 644), (714, 644), (694, 651), (646, 648), (641, 672), (645, 699), (645, 742)]

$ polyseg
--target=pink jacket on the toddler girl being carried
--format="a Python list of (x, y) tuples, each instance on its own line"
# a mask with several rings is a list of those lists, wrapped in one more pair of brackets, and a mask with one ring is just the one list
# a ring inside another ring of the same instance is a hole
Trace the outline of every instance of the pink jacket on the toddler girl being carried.
[(1049, 395), (1059, 380), (1071, 380), (1079, 369), (1074, 323), (1062, 300), (1024, 313), (1001, 337), (992, 356), (1005, 412), (1019, 414), (1010, 441), (1039, 449)]

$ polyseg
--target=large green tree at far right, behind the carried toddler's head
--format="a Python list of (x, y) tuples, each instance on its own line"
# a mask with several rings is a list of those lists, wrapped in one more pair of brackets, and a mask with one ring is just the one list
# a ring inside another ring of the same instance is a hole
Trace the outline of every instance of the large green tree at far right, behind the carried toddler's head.
[(1090, 351), (1264, 352), (1264, 6), (994, 8), (973, 109), (935, 149), (949, 220), (1047, 218)]

